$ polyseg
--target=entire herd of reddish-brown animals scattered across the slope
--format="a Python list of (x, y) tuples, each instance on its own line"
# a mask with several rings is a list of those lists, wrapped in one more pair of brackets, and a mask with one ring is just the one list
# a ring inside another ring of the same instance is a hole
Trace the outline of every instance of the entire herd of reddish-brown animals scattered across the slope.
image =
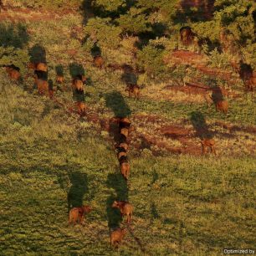
[[(192, 33), (192, 29), (185, 27), (180, 31), (181, 40), (184, 44), (189, 44), (189, 42), (194, 40), (195, 34)], [(101, 56), (96, 56), (94, 59), (94, 64), (98, 68), (102, 68), (104, 60)], [(30, 63), (28, 64), (28, 69), (33, 69), (34, 72), (34, 83), (37, 86), (39, 95), (47, 95), (50, 99), (54, 97), (53, 85), (48, 81), (48, 66), (45, 63)], [(6, 66), (6, 71), (11, 79), (17, 80), (21, 78), (19, 69), (13, 65)], [(243, 72), (242, 72), (243, 71)], [(252, 73), (248, 72), (247, 69), (242, 70), (241, 77), (247, 84), (252, 84)], [(74, 94), (74, 101), (79, 115), (85, 115), (85, 102), (84, 102), (84, 84), (86, 78), (84, 75), (78, 74), (72, 79), (72, 91)], [(64, 84), (64, 75), (57, 74), (56, 83)], [(125, 91), (128, 91), (129, 97), (134, 95), (136, 99), (140, 98), (140, 87), (137, 84), (128, 84)], [(223, 95), (223, 91), (220, 90), (220, 95)], [(216, 110), (223, 112), (223, 114), (228, 113), (228, 101), (223, 99), (213, 100), (212, 97), (206, 98), (207, 104), (215, 104)], [(115, 122), (119, 125), (120, 141), (115, 144), (115, 150), (117, 151), (117, 159), (120, 164), (120, 174), (127, 182), (130, 176), (130, 163), (128, 161), (128, 150), (129, 145), (127, 142), (128, 136), (132, 131), (131, 121), (127, 117), (115, 117)], [(213, 139), (203, 139), (202, 144), (202, 154), (206, 153), (206, 148), (209, 147), (211, 152), (216, 155), (215, 151), (215, 141)], [(114, 201), (111, 205), (113, 208), (118, 208), (120, 210), (121, 216), (126, 216), (127, 224), (131, 223), (131, 216), (134, 207), (130, 202), (125, 201)], [(69, 211), (69, 225), (74, 223), (82, 224), (84, 222), (84, 214), (89, 213), (92, 210), (90, 206), (73, 207)], [(110, 244), (113, 247), (117, 247), (121, 240), (124, 238), (126, 233), (126, 228), (117, 228), (110, 233)]]

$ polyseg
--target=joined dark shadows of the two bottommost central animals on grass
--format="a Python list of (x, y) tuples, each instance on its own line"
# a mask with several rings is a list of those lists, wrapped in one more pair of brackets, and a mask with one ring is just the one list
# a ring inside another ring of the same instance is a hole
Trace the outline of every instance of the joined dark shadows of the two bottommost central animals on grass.
[(112, 193), (106, 201), (106, 212), (108, 218), (108, 226), (110, 229), (115, 229), (120, 227), (122, 222), (122, 217), (120, 211), (116, 208), (112, 208), (112, 203), (115, 200), (118, 201), (128, 201), (128, 187), (127, 182), (121, 176), (120, 173), (110, 173), (106, 182), (107, 187), (115, 190), (115, 194)]

